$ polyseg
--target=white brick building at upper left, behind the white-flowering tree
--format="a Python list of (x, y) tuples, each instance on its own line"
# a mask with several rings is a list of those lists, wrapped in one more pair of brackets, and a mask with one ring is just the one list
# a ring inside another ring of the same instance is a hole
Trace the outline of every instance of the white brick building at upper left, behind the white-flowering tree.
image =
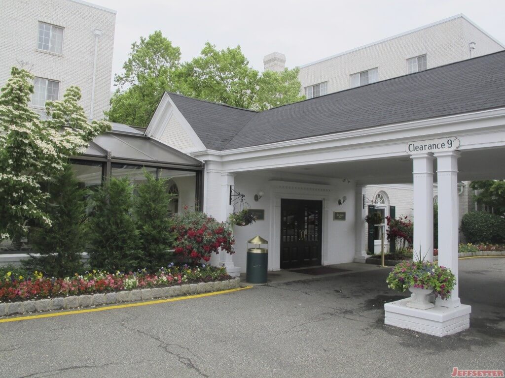
[[(81, 0), (0, 0), (0, 86), (13, 66), (36, 77), (32, 106), (81, 89), (89, 118), (104, 118), (111, 97), (116, 11)], [(94, 85), (94, 92), (93, 92)], [(94, 95), (93, 95), (94, 94)]]

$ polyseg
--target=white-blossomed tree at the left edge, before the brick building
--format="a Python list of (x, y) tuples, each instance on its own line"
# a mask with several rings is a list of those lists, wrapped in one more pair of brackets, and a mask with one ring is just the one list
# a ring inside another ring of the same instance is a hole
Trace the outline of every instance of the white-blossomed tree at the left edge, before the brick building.
[(32, 93), (33, 76), (13, 67), (0, 94), (0, 241), (26, 232), (29, 221), (51, 225), (40, 183), (111, 128), (106, 121), (88, 122), (77, 87), (68, 88), (62, 101), (46, 102), (45, 120), (28, 107)]

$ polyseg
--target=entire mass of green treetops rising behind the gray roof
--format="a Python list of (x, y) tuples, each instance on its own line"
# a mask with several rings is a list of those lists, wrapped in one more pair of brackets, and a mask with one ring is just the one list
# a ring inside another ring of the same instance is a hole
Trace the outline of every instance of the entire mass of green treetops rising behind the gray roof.
[(146, 127), (164, 91), (253, 110), (304, 99), (298, 69), (260, 73), (240, 46), (219, 50), (207, 42), (200, 55), (180, 63), (180, 49), (160, 31), (133, 43), (111, 99), (109, 119)]

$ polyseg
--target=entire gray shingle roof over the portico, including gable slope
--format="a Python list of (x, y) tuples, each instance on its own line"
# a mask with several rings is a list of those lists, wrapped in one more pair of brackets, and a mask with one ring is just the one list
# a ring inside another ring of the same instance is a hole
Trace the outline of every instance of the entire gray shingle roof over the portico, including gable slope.
[(229, 150), (505, 106), (505, 51), (252, 112), (170, 94), (207, 148)]

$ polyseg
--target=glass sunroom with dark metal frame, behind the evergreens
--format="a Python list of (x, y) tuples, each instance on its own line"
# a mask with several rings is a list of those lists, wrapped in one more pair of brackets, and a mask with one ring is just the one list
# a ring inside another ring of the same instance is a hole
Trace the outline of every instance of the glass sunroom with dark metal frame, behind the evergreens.
[(112, 124), (111, 132), (94, 138), (82, 156), (71, 160), (82, 186), (102, 185), (110, 177), (128, 176), (133, 183), (145, 180), (144, 170), (168, 178), (167, 190), (175, 195), (171, 211), (193, 209), (203, 201), (203, 164), (132, 127)]

